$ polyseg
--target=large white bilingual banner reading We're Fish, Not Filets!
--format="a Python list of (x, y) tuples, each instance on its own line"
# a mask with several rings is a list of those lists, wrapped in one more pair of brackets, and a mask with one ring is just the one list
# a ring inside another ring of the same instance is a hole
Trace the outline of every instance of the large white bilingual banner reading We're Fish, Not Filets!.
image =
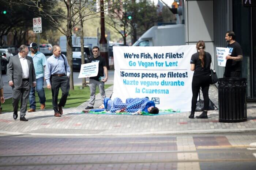
[(112, 99), (148, 97), (159, 109), (191, 110), (190, 60), (196, 46), (113, 47)]

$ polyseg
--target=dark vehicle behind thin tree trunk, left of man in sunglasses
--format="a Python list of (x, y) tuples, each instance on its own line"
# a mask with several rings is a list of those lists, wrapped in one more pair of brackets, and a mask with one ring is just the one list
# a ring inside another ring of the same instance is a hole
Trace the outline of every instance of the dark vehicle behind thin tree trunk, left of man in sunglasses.
[[(80, 71), (81, 68), (81, 47), (80, 46), (73, 46), (73, 70)], [(89, 46), (84, 46), (84, 63), (91, 62), (93, 53), (91, 51), (91, 48)]]

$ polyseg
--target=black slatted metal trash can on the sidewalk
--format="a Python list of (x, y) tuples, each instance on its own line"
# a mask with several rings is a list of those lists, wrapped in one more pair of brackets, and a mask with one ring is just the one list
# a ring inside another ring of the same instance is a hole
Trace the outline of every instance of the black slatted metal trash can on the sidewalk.
[(247, 120), (246, 86), (246, 78), (219, 79), (219, 122)]

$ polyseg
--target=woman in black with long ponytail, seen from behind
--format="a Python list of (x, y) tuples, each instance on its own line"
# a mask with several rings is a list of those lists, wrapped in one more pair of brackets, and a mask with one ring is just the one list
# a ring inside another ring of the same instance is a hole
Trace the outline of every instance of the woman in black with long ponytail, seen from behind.
[(192, 79), (192, 106), (191, 106), (191, 114), (188, 118), (193, 119), (195, 110), (196, 110), (196, 102), (199, 94), (200, 87), (202, 87), (203, 97), (204, 97), (204, 110), (202, 114), (196, 116), (196, 118), (207, 119), (207, 110), (209, 106), (209, 86), (211, 82), (210, 77), (210, 64), (211, 64), (211, 55), (208, 52), (205, 52), (205, 44), (204, 41), (200, 40), (196, 43), (197, 53), (193, 54), (191, 57), (191, 71), (194, 71), (193, 79)]

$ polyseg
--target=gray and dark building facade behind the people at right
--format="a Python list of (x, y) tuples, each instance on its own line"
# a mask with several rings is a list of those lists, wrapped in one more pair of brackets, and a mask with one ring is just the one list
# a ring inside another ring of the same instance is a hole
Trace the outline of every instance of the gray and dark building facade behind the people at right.
[(246, 96), (248, 101), (256, 101), (256, 6), (250, 6), (249, 1), (246, 6), (245, 1), (186, 0), (185, 41), (196, 44), (198, 40), (204, 40), (218, 78), (222, 78), (225, 67), (218, 66), (215, 48), (226, 47), (226, 31), (234, 31), (243, 51), (242, 77), (248, 82)]

